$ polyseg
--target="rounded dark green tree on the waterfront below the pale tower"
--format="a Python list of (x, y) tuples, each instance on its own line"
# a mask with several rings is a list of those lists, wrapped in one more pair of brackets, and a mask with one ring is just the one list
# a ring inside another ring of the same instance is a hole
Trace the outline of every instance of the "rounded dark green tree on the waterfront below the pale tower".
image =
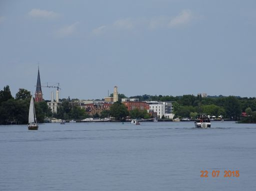
[(110, 106), (109, 114), (114, 117), (115, 120), (125, 119), (128, 115), (128, 110), (121, 102), (115, 102)]

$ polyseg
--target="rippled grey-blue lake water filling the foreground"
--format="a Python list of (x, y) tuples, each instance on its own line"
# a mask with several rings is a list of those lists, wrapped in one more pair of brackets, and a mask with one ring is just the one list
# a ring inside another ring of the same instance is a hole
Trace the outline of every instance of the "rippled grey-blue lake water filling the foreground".
[[(0, 126), (0, 191), (254, 191), (256, 125)], [(201, 178), (200, 171), (208, 177)], [(239, 177), (224, 177), (224, 171)], [(212, 177), (212, 171), (220, 171)]]

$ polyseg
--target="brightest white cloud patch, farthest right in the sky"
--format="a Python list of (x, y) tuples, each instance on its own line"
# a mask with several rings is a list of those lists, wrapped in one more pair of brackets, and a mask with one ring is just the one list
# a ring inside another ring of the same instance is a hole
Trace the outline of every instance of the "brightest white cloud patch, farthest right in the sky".
[(169, 27), (175, 27), (180, 25), (185, 25), (193, 19), (193, 14), (191, 10), (184, 9), (177, 16), (173, 17), (169, 23)]

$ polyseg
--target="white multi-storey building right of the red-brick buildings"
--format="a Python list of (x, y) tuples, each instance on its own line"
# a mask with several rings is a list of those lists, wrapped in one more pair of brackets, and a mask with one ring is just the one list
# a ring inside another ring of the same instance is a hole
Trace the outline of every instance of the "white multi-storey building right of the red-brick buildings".
[(172, 119), (172, 102), (158, 102), (158, 101), (147, 101), (149, 104), (149, 112), (156, 113), (158, 118), (164, 116), (167, 119)]

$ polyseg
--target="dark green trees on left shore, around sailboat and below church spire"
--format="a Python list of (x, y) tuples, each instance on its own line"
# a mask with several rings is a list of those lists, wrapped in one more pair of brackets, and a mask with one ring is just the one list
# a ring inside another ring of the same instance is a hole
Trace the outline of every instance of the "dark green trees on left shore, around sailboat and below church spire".
[[(31, 94), (29, 91), (20, 88), (12, 97), (9, 86), (5, 86), (0, 90), (0, 125), (8, 124), (9, 122), (17, 122), (17, 124), (26, 124), (28, 122), (28, 110)], [(68, 100), (63, 99), (57, 113), (51, 112), (46, 101), (34, 103), (36, 120), (43, 123), (45, 118), (59, 119), (84, 119), (88, 116), (84, 109), (78, 106), (71, 107)]]

